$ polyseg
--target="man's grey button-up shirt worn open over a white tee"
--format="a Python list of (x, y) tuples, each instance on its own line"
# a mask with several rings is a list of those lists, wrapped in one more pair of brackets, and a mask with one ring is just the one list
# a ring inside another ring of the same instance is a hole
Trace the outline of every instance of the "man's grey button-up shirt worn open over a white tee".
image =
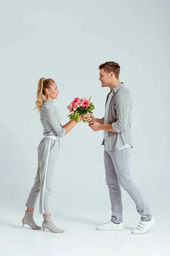
[[(132, 106), (130, 91), (125, 87), (124, 83), (113, 88), (108, 94), (105, 105), (104, 125), (112, 124), (115, 132), (104, 131), (102, 145), (105, 145), (107, 150), (115, 150), (126, 144), (133, 147), (131, 136)], [(105, 138), (108, 138), (106, 142)]]

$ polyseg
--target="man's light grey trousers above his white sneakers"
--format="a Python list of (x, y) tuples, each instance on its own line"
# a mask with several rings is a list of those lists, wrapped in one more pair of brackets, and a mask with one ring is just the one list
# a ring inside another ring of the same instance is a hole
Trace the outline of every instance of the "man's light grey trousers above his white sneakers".
[(141, 193), (135, 186), (130, 174), (130, 152), (132, 148), (109, 151), (104, 150), (104, 163), (106, 184), (108, 185), (112, 218), (114, 223), (122, 222), (122, 195), (121, 188), (127, 191), (136, 204), (136, 209), (141, 215), (142, 221), (150, 221), (152, 215), (142, 198)]

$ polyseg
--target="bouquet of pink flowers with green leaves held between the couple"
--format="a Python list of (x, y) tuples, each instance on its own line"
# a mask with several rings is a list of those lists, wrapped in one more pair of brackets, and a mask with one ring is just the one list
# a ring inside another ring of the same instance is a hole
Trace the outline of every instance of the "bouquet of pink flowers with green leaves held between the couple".
[[(92, 110), (94, 110), (94, 105), (92, 102), (90, 102), (90, 99), (87, 98), (75, 98), (73, 102), (70, 103), (70, 105), (67, 106), (67, 109), (69, 109), (69, 112), (71, 114), (68, 116), (69, 119), (73, 120), (76, 119), (76, 122), (79, 121), (79, 115), (85, 115), (87, 113), (93, 113)], [(87, 120), (84, 119), (83, 116), (83, 122), (86, 122)]]

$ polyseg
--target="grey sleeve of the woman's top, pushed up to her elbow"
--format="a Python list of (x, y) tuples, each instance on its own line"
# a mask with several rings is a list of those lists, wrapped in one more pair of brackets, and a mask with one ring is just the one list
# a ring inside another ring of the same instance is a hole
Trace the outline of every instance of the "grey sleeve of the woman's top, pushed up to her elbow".
[(54, 129), (59, 137), (63, 138), (65, 136), (65, 128), (63, 128), (57, 120), (57, 117), (55, 116), (54, 110), (52, 108), (46, 109), (45, 119), (48, 121), (48, 123), (51, 125), (51, 127)]

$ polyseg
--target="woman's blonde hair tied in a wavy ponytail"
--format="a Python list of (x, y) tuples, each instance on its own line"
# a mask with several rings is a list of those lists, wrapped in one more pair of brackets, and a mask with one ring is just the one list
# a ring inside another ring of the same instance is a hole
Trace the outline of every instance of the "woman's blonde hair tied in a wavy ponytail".
[(40, 112), (42, 105), (46, 102), (47, 98), (45, 97), (45, 89), (50, 89), (51, 84), (55, 83), (53, 79), (45, 79), (44, 77), (40, 78), (38, 81), (38, 89), (37, 89), (37, 101), (36, 107), (37, 111)]

